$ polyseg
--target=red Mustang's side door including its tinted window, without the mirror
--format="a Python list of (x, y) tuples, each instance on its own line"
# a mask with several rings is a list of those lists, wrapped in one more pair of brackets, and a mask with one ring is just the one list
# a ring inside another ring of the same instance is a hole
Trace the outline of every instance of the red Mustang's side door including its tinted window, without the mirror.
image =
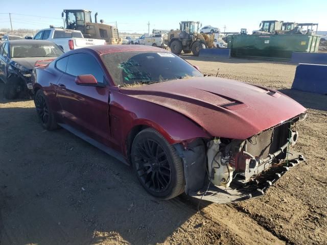
[[(57, 97), (65, 124), (83, 132), (97, 141), (108, 144), (109, 85), (104, 72), (94, 56), (86, 53), (67, 57), (66, 70), (57, 83)], [(78, 85), (79, 75), (93, 75), (97, 86)]]

